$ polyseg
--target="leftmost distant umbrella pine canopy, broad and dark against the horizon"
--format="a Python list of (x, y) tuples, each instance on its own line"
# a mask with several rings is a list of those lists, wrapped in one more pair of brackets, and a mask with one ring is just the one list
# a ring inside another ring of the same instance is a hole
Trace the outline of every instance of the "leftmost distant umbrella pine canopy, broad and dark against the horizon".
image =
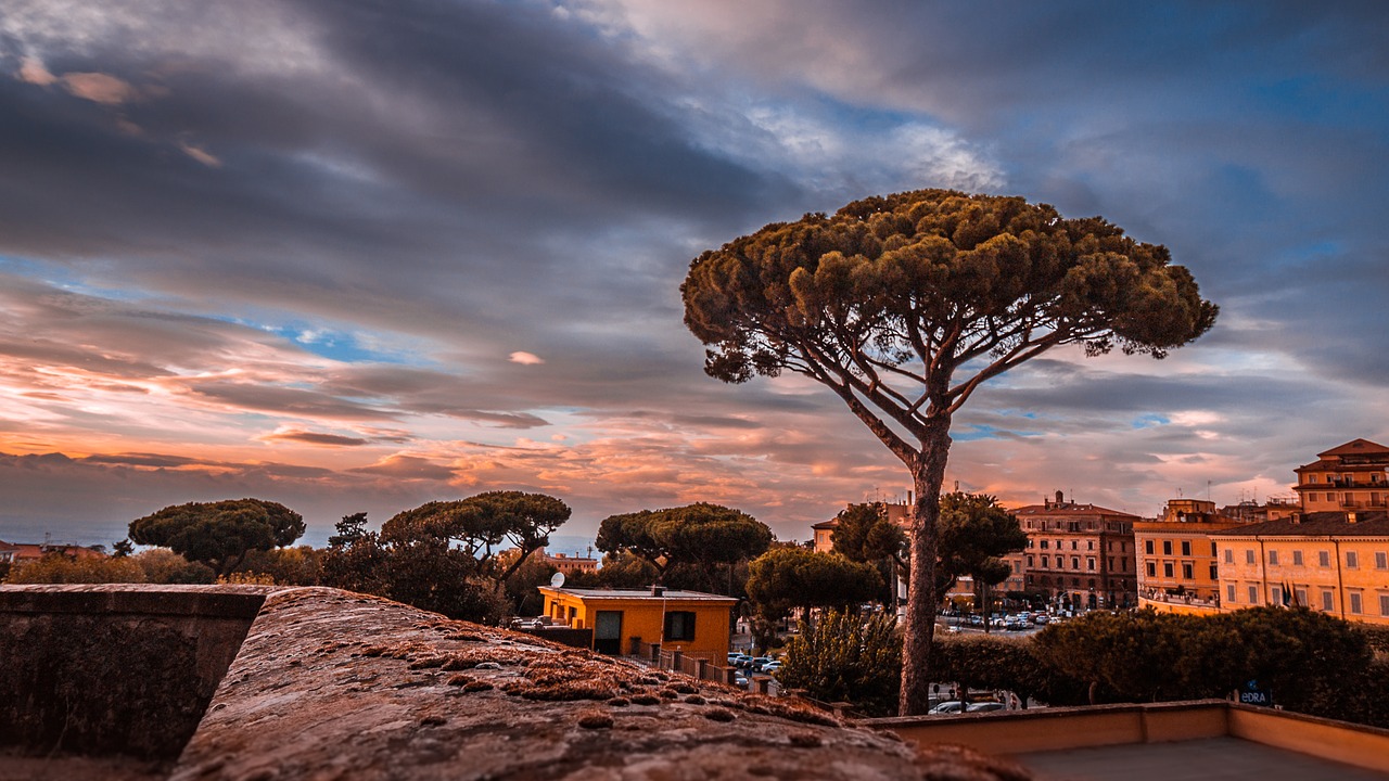
[(131, 539), (169, 548), (190, 561), (231, 573), (247, 550), (269, 550), (304, 534), (304, 518), (264, 499), (189, 502), (131, 521)]

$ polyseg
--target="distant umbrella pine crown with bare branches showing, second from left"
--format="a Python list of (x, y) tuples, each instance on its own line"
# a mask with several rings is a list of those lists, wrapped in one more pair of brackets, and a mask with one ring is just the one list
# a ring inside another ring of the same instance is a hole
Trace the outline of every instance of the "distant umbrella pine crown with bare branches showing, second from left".
[[(397, 513), (382, 524), (381, 536), (400, 543), (457, 545), (478, 561), (482, 574), (501, 582), (532, 550), (550, 543), (550, 532), (569, 520), (569, 513), (568, 504), (544, 493), (489, 491)], [(494, 556), (510, 548), (521, 550), (521, 557), (507, 567), (494, 567)]]

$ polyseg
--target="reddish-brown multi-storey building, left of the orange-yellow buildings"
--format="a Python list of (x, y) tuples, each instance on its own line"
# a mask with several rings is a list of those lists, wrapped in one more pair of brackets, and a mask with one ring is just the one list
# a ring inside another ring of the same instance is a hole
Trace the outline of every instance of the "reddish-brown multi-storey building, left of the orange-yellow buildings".
[(1026, 591), (1043, 592), (1056, 606), (1079, 610), (1138, 603), (1133, 524), (1120, 510), (1056, 500), (1013, 510), (1028, 535)]

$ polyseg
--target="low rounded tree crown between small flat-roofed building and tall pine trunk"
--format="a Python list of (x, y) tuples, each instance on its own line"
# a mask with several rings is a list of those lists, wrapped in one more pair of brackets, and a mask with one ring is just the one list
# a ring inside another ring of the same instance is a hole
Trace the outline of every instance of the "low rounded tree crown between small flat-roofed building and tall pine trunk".
[(747, 568), (747, 596), (768, 620), (783, 618), (792, 607), (857, 607), (883, 588), (871, 564), (799, 546), (774, 548)]

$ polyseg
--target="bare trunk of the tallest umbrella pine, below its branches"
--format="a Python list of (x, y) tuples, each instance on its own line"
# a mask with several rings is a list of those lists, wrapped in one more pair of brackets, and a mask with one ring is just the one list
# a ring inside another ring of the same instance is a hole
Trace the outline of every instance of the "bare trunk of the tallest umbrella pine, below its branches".
[(950, 454), (950, 418), (933, 418), (922, 435), (913, 463), (915, 506), (911, 516), (911, 570), (907, 585), (907, 621), (901, 645), (900, 716), (931, 710), (931, 642), (936, 630), (936, 520), (940, 517), (940, 485)]

